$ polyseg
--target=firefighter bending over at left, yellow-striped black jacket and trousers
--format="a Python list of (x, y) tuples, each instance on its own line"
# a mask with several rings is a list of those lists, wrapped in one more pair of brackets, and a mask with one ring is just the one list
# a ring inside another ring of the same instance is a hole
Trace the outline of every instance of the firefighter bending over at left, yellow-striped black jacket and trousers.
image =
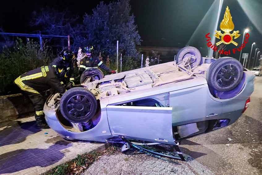
[(64, 77), (65, 74), (65, 70), (56, 71), (52, 66), (42, 66), (23, 73), (15, 79), (15, 84), (23, 91), (23, 94), (28, 95), (34, 105), (37, 127), (49, 128), (43, 111), (45, 98), (40, 93), (54, 88), (63, 94), (67, 87), (60, 83), (59, 78)]

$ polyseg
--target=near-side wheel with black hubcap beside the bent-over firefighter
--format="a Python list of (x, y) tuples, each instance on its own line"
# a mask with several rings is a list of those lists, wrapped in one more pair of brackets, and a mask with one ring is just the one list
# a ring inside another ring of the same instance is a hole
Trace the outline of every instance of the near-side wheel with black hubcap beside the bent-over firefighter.
[(83, 87), (67, 90), (60, 100), (60, 111), (64, 118), (73, 123), (90, 120), (97, 111), (97, 99)]

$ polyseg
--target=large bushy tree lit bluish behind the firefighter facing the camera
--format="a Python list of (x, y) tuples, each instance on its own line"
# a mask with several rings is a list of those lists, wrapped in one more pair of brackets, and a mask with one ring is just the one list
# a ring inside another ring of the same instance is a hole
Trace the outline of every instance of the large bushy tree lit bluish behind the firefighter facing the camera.
[(131, 14), (129, 0), (101, 2), (92, 15), (84, 15), (84, 43), (96, 46), (97, 52), (105, 55), (116, 53), (116, 41), (119, 50), (127, 56), (136, 57), (135, 45), (140, 45), (140, 35)]

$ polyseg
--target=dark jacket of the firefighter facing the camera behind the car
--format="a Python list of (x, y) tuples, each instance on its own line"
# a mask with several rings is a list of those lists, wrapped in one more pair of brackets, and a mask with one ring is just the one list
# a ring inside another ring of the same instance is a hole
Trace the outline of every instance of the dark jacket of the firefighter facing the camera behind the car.
[(85, 69), (88, 68), (97, 68), (100, 67), (101, 69), (107, 70), (108, 72), (111, 72), (112, 70), (108, 68), (103, 61), (99, 60), (96, 56), (92, 56), (90, 58), (84, 57), (80, 61), (79, 65), (79, 72), (83, 72)]

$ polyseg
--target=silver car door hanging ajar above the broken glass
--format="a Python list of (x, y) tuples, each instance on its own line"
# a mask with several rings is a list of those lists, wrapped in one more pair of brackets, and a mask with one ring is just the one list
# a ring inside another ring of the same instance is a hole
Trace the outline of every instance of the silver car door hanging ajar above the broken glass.
[(110, 105), (106, 107), (106, 110), (113, 135), (174, 144), (172, 107)]

